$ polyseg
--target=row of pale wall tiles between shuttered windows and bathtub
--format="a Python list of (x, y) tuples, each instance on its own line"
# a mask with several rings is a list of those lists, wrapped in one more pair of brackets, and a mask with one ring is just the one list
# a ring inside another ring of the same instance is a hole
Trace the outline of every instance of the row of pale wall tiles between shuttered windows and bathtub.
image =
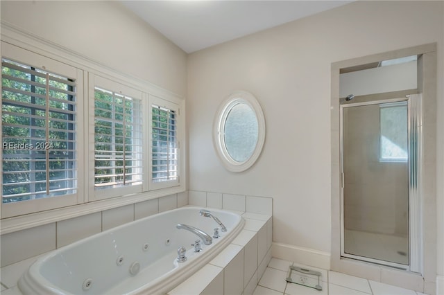
[(0, 267), (58, 249), (114, 226), (187, 204), (188, 194), (185, 192), (3, 234), (0, 239)]

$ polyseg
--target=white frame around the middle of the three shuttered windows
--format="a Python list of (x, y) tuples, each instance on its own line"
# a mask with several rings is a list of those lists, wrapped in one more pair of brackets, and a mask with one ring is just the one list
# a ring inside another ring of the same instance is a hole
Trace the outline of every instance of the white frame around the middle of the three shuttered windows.
[[(146, 118), (146, 99), (145, 93), (128, 87), (119, 82), (115, 82), (108, 78), (103, 78), (100, 75), (95, 75), (94, 73), (89, 73), (89, 201), (95, 201), (100, 199), (108, 199), (111, 197), (119, 197), (123, 195), (131, 195), (135, 193), (142, 193), (143, 184), (137, 184), (134, 186), (120, 186), (117, 188), (103, 188), (97, 189), (94, 186), (95, 178), (95, 143), (94, 143), (94, 128), (95, 128), (95, 116), (94, 116), (94, 102), (95, 102), (95, 91), (96, 87), (100, 89), (105, 89), (108, 91), (113, 91), (115, 93), (121, 93), (124, 96), (129, 96), (131, 98), (140, 100), (140, 107), (142, 108), (142, 143), (146, 142), (146, 132), (144, 132), (144, 120)], [(142, 151), (142, 159), (145, 158), (145, 151)], [(143, 160), (142, 160), (143, 161)], [(143, 164), (142, 164), (143, 165)], [(145, 170), (142, 168), (142, 175)], [(143, 182), (143, 176), (142, 176)]]

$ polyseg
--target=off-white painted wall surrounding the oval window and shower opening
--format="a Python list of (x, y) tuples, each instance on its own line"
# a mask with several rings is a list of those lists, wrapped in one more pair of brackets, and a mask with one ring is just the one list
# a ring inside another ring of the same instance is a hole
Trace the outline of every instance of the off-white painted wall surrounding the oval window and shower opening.
[[(330, 252), (331, 63), (438, 42), (443, 208), (443, 4), (358, 1), (189, 55), (189, 189), (273, 197), (274, 242)], [(212, 123), (219, 104), (237, 89), (259, 100), (267, 130), (255, 166), (234, 174), (216, 157)], [(444, 274), (444, 262), (438, 273)]]

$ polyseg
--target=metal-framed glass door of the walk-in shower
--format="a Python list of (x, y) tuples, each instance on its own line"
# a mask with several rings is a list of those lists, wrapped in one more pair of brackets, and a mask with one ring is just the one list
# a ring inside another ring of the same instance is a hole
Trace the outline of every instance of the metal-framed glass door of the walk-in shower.
[(342, 110), (342, 255), (408, 268), (407, 100)]

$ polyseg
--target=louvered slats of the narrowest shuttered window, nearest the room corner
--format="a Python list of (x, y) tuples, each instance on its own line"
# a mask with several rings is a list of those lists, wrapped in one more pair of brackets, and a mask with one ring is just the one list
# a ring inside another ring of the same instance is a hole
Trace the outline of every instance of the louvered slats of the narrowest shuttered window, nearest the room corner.
[(178, 109), (151, 105), (151, 182), (178, 183)]

